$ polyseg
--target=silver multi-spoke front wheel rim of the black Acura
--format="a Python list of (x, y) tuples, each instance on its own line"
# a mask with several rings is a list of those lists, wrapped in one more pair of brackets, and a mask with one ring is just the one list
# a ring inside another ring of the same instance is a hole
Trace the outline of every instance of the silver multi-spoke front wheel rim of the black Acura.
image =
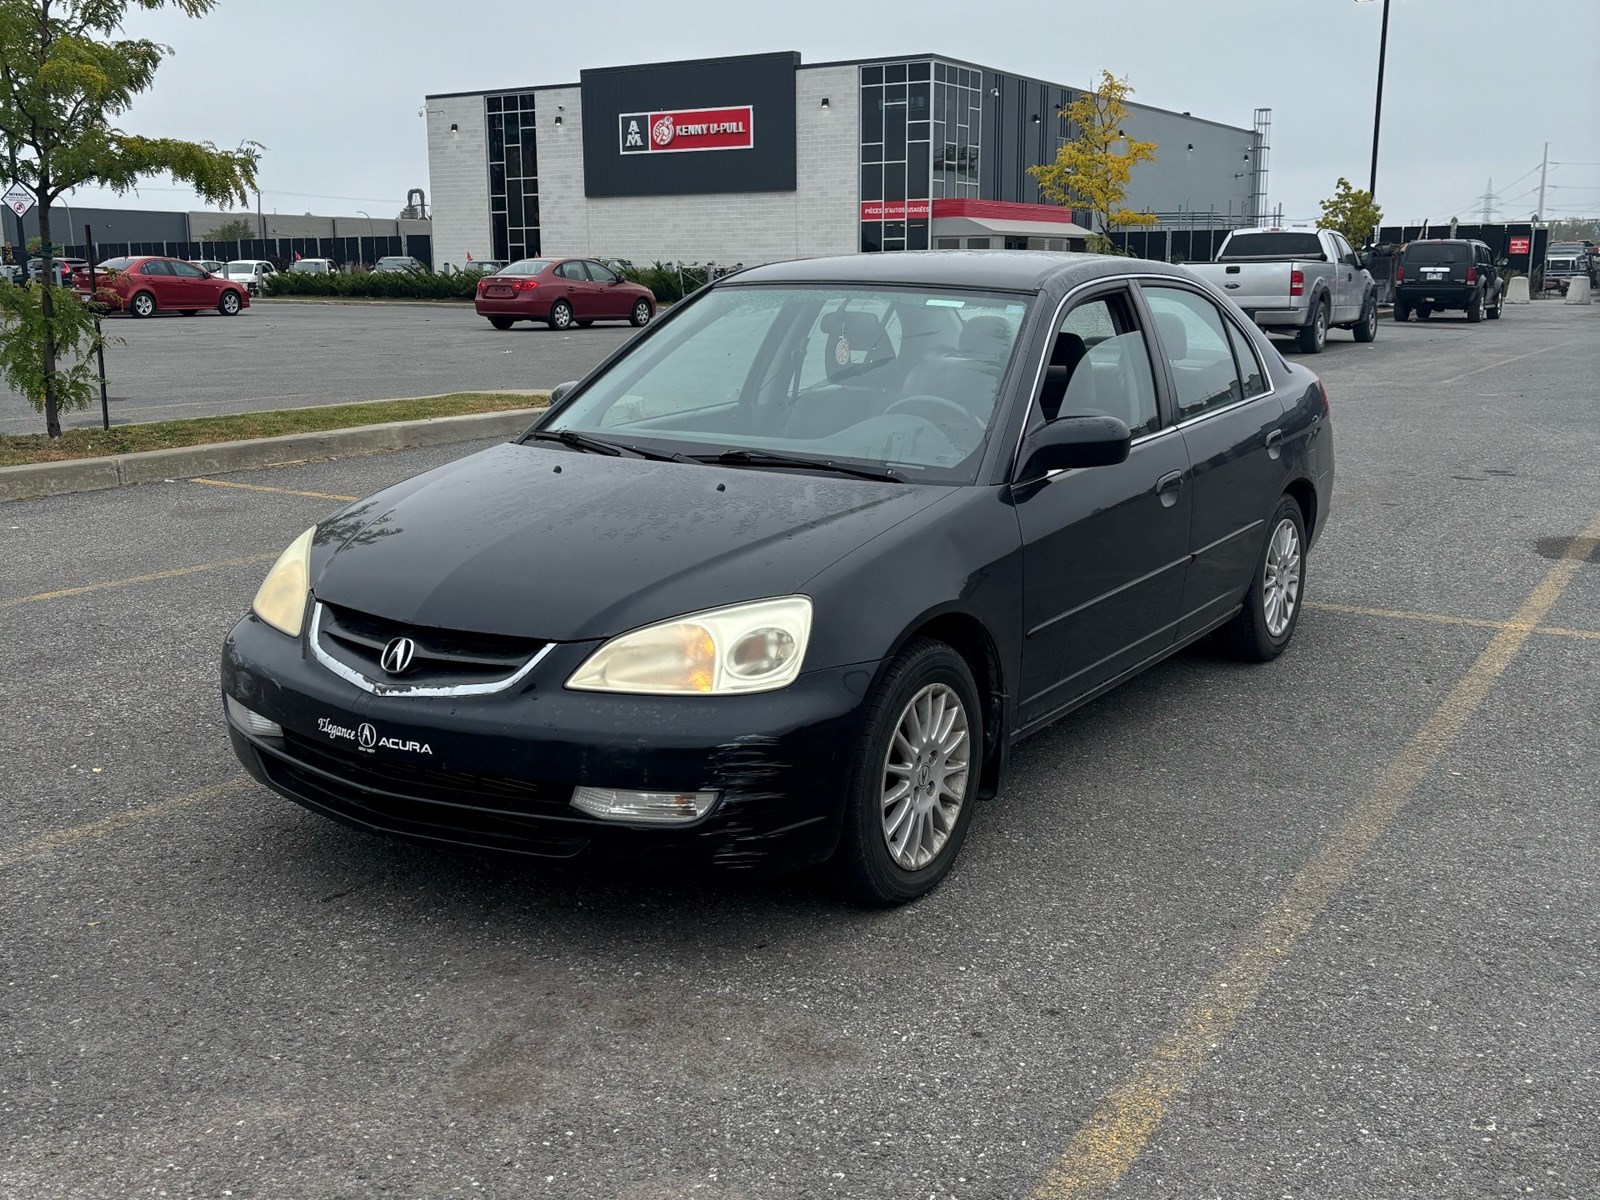
[(971, 726), (946, 683), (922, 688), (901, 712), (883, 760), (883, 842), (904, 870), (942, 853), (966, 797)]

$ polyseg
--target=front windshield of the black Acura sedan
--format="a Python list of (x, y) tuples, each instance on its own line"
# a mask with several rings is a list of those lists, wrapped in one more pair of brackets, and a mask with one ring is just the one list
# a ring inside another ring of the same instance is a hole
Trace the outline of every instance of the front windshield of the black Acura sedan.
[(970, 483), (1030, 299), (718, 288), (640, 339), (542, 429), (669, 454), (765, 451)]

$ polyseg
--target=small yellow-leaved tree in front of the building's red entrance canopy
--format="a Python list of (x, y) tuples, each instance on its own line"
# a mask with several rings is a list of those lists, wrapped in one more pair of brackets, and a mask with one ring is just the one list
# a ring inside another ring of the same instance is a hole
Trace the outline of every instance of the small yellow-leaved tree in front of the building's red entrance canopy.
[(1091, 216), (1094, 250), (1110, 250), (1117, 226), (1154, 226), (1160, 218), (1123, 208), (1128, 181), (1139, 163), (1155, 162), (1155, 142), (1128, 138), (1122, 125), (1128, 117), (1128, 80), (1101, 72), (1099, 86), (1078, 93), (1061, 110), (1074, 138), (1056, 152), (1056, 162), (1029, 166), (1040, 194), (1066, 208), (1086, 208)]

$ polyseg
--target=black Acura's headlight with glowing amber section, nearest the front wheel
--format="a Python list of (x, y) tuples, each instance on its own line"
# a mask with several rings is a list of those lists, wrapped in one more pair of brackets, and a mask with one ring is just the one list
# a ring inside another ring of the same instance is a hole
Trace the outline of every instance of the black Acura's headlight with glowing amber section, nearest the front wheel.
[(794, 683), (810, 638), (810, 597), (754, 600), (614, 637), (573, 672), (566, 686), (634, 696), (774, 691)]

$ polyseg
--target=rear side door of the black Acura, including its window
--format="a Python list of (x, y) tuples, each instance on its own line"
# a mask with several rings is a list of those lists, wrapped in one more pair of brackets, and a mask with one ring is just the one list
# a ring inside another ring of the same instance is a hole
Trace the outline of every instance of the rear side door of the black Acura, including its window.
[(1283, 400), (1254, 342), (1210, 296), (1178, 280), (1141, 291), (1194, 472), (1184, 638), (1226, 618), (1250, 587), (1267, 518), (1288, 486)]

